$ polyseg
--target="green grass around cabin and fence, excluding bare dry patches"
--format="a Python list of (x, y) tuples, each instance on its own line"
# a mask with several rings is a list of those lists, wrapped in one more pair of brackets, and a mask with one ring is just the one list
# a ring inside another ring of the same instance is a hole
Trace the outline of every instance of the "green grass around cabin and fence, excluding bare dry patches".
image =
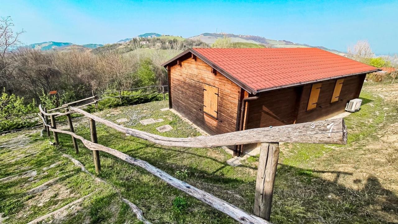
[[(271, 215), (273, 223), (318, 224), (336, 223), (336, 220), (338, 223), (347, 224), (386, 223), (383, 215), (369, 212), (369, 206), (378, 206), (375, 202), (378, 195), (369, 195), (364, 191), (350, 189), (322, 179), (319, 171), (311, 168), (312, 163), (321, 161), (320, 158), (330, 153), (334, 147), (349, 148), (353, 144), (377, 138), (375, 132), (385, 116), (382, 110), (385, 105), (382, 98), (374, 93), (363, 92), (361, 97), (363, 98), (361, 111), (345, 118), (349, 129), (348, 145), (283, 144), (281, 146), (283, 153), (279, 160)], [(163, 107), (167, 107), (166, 101), (119, 107), (118, 114), (109, 114), (115, 110), (108, 109), (101, 111), (98, 115), (113, 122), (119, 118), (127, 118), (129, 121), (123, 123), (125, 127), (162, 136), (200, 135), (196, 129), (171, 111), (160, 111)], [(164, 121), (146, 126), (139, 124), (139, 120), (147, 118), (162, 118)], [(172, 131), (164, 133), (156, 131), (156, 127), (167, 124), (173, 127)], [(87, 124), (76, 125), (75, 132), (90, 139)], [(231, 155), (221, 148), (163, 147), (139, 138), (125, 136), (101, 124), (97, 124), (97, 133), (100, 144), (145, 160), (170, 175), (252, 212), (258, 157), (248, 158), (242, 166), (231, 167), (225, 163)], [(1, 136), (0, 142), (7, 142), (16, 136), (16, 134)], [(0, 203), (0, 206), (3, 206), (0, 207), (0, 213), (7, 212), (12, 217), (5, 223), (27, 222), (49, 212), (47, 208), (55, 209), (52, 206), (59, 207), (74, 200), (76, 197), (61, 201), (51, 199), (45, 206), (32, 208), (34, 211), (27, 218), (16, 218), (27, 207), (26, 202), (29, 199), (23, 196), (27, 189), (66, 173), (72, 173), (72, 175), (62, 179), (60, 183), (75, 192), (77, 197), (87, 195), (94, 189), (104, 190), (91, 197), (90, 200), (86, 200), (82, 210), (64, 220), (64, 223), (82, 223), (85, 220), (90, 220), (91, 223), (124, 223), (126, 220), (139, 223), (129, 208), (120, 202), (115, 192), (119, 192), (141, 208), (144, 216), (153, 223), (236, 223), (222, 212), (170, 187), (145, 170), (103, 152), (100, 152), (102, 171), (98, 176), (105, 179), (109, 185), (99, 186), (85, 173), (79, 172), (79, 169), (66, 158), (61, 157), (62, 153), (73, 155), (91, 173), (94, 173), (91, 151), (84, 148), (81, 142), (78, 143), (80, 153), (76, 155), (68, 135), (59, 135), (60, 147), (49, 146), (48, 141), (40, 138), (37, 133), (31, 135), (30, 138), (35, 145), (23, 150), (37, 149), (40, 153), (20, 160), (16, 164), (10, 164), (3, 161), (6, 158), (13, 158), (13, 152), (1, 150), (0, 178), (15, 173), (15, 170), (20, 169), (22, 165), (42, 168), (57, 161), (61, 161), (62, 165), (38, 173), (35, 177), (37, 181), (23, 188), (20, 187), (20, 181), (0, 183), (0, 200), (9, 200), (8, 203)], [(32, 168), (21, 169), (21, 171), (29, 169)], [(22, 181), (24, 181), (22, 183), (27, 183), (28, 180)], [(328, 197), (329, 195), (333, 197)], [(390, 197), (395, 196), (390, 195)], [(387, 207), (394, 209), (393, 206), (388, 204)]]

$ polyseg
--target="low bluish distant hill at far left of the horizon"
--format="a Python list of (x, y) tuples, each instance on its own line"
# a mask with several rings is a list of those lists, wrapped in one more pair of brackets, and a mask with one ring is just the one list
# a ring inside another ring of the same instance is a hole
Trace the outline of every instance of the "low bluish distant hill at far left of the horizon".
[(70, 50), (70, 49), (77, 49), (79, 51), (84, 51), (84, 50), (89, 50), (89, 49), (95, 49), (97, 47), (101, 47), (103, 45), (101, 44), (85, 44), (85, 45), (76, 45), (73, 43), (63, 43), (63, 42), (55, 42), (55, 41), (46, 41), (42, 43), (33, 43), (30, 44), (26, 47), (32, 48), (32, 49), (37, 49), (41, 51), (65, 51), (65, 50)]

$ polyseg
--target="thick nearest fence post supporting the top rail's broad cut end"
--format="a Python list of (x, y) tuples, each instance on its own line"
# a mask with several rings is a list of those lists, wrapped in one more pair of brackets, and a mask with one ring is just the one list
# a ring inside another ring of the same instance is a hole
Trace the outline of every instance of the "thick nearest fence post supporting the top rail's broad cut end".
[(267, 221), (271, 216), (272, 194), (278, 159), (279, 143), (261, 143), (253, 213)]

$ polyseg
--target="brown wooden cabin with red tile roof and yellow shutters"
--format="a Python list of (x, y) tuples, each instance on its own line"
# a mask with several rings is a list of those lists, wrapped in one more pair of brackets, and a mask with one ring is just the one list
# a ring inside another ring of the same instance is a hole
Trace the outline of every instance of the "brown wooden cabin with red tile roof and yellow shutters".
[(169, 107), (212, 135), (332, 117), (379, 70), (318, 48), (188, 49), (163, 66)]

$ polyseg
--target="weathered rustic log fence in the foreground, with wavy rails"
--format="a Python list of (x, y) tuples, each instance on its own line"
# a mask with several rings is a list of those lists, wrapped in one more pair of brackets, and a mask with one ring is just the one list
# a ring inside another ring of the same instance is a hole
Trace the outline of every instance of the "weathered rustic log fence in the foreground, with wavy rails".
[[(301, 123), (295, 125), (284, 125), (279, 127), (249, 129), (238, 132), (231, 132), (226, 134), (218, 134), (214, 136), (198, 136), (194, 138), (170, 138), (151, 134), (136, 129), (131, 129), (117, 125), (77, 107), (70, 107), (65, 109), (64, 113), (55, 112), (47, 113), (39, 105), (40, 119), (43, 121), (43, 127), (47, 130), (47, 136), (50, 138), (50, 131), (53, 132), (55, 144), (59, 144), (58, 133), (69, 134), (72, 136), (72, 141), (76, 153), (79, 153), (76, 139), (83, 142), (84, 146), (92, 150), (94, 165), (96, 172), (101, 171), (101, 162), (99, 151), (107, 152), (129, 164), (139, 166), (153, 175), (159, 177), (172, 187), (175, 187), (188, 195), (212, 206), (213, 208), (223, 212), (242, 224), (269, 224), (271, 214), (271, 202), (273, 194), (273, 185), (275, 180), (275, 173), (277, 162), (279, 158), (279, 143), (278, 142), (300, 142), (300, 143), (322, 143), (322, 144), (346, 144), (347, 143), (347, 128), (343, 119), (331, 119), (326, 121), (315, 121), (310, 123)], [(71, 113), (80, 113), (89, 118), (91, 141), (84, 139), (74, 133)], [(67, 116), (70, 130), (64, 131), (57, 129), (55, 116)], [(51, 119), (51, 125), (48, 124), (48, 116)], [(261, 144), (259, 166), (256, 179), (255, 200), (253, 213), (250, 214), (244, 210), (219, 199), (210, 193), (202, 191), (188, 183), (185, 183), (168, 173), (152, 166), (146, 161), (133, 158), (123, 152), (103, 146), (97, 143), (96, 122), (102, 123), (119, 132), (142, 138), (156, 144), (163, 146), (178, 146), (178, 147), (194, 147), (194, 148), (213, 148), (217, 146), (234, 146), (241, 144), (250, 144), (263, 142)]]

